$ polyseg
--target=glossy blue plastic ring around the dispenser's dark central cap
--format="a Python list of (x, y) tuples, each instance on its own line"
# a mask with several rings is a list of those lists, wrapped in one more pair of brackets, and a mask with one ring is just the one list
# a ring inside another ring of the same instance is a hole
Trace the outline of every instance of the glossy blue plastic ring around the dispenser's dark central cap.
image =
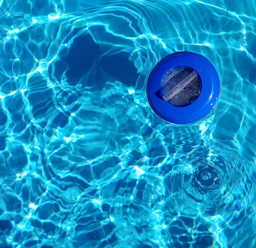
[[(192, 68), (201, 79), (200, 95), (188, 106), (173, 105), (157, 94), (166, 73), (177, 67)], [(221, 84), (215, 67), (207, 58), (193, 52), (177, 52), (166, 56), (154, 66), (146, 90), (150, 107), (163, 120), (172, 124), (192, 124), (214, 109), (220, 96)]]

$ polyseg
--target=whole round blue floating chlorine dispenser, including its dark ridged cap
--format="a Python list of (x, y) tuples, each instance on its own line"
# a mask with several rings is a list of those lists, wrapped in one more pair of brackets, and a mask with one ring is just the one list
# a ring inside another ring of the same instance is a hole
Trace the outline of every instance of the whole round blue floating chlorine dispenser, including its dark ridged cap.
[(147, 81), (152, 110), (173, 124), (191, 124), (207, 116), (220, 96), (213, 64), (200, 54), (178, 52), (160, 60)]

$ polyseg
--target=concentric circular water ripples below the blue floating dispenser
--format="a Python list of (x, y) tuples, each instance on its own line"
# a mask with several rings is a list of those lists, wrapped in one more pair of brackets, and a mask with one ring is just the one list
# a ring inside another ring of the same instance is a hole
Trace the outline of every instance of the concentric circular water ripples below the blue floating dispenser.
[(178, 212), (225, 216), (240, 210), (251, 187), (244, 176), (245, 166), (227, 147), (196, 146), (171, 173), (168, 202)]

